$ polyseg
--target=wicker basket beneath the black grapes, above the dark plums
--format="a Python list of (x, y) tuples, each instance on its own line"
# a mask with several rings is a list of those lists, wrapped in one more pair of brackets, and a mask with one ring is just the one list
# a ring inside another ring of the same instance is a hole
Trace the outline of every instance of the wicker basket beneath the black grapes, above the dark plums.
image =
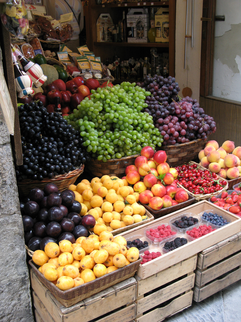
[(44, 179), (42, 181), (39, 180), (30, 180), (30, 179), (24, 179), (20, 182), (17, 182), (18, 186), (18, 194), (21, 197), (25, 197), (29, 194), (30, 190), (33, 188), (40, 188), (43, 189), (47, 183), (54, 183), (57, 185), (59, 191), (63, 191), (68, 188), (69, 185), (72, 185), (75, 183), (76, 179), (79, 175), (82, 174), (84, 171), (84, 165), (80, 166), (80, 168), (70, 171), (64, 175), (56, 175), (52, 179)]

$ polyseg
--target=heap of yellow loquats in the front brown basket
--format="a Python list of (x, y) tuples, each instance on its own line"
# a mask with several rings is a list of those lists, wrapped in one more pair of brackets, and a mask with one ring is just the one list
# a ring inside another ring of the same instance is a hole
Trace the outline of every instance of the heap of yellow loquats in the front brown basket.
[(49, 242), (44, 251), (33, 253), (32, 260), (46, 279), (64, 291), (138, 260), (138, 249), (127, 250), (126, 245), (124, 237), (103, 231), (100, 236), (79, 237), (74, 244)]

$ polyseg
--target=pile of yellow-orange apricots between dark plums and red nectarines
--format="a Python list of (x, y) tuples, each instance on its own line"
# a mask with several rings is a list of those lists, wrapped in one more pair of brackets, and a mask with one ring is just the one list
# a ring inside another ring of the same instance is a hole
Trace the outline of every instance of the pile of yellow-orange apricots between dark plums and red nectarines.
[(82, 180), (68, 189), (75, 193), (75, 200), (82, 206), (81, 216), (93, 215), (96, 221), (92, 231), (99, 235), (103, 230), (112, 232), (147, 219), (146, 209), (138, 204), (139, 194), (134, 192), (126, 179), (103, 175), (89, 182)]

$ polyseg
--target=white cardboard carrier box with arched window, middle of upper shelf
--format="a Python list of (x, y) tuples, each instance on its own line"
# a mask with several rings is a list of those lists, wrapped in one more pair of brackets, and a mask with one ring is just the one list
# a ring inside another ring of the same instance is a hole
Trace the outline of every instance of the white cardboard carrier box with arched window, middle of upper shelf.
[[(146, 8), (131, 8), (126, 15), (127, 32), (132, 37), (127, 38), (128, 43), (148, 43), (148, 30), (150, 29), (150, 15)], [(130, 32), (130, 33), (129, 33)]]

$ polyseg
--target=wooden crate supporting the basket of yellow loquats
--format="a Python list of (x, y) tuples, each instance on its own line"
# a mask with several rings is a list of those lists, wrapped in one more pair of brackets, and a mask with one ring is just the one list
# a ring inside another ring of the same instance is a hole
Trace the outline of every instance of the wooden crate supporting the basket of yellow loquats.
[(135, 318), (137, 282), (133, 277), (68, 308), (43, 286), (32, 269), (30, 282), (33, 305), (44, 322), (128, 322)]

